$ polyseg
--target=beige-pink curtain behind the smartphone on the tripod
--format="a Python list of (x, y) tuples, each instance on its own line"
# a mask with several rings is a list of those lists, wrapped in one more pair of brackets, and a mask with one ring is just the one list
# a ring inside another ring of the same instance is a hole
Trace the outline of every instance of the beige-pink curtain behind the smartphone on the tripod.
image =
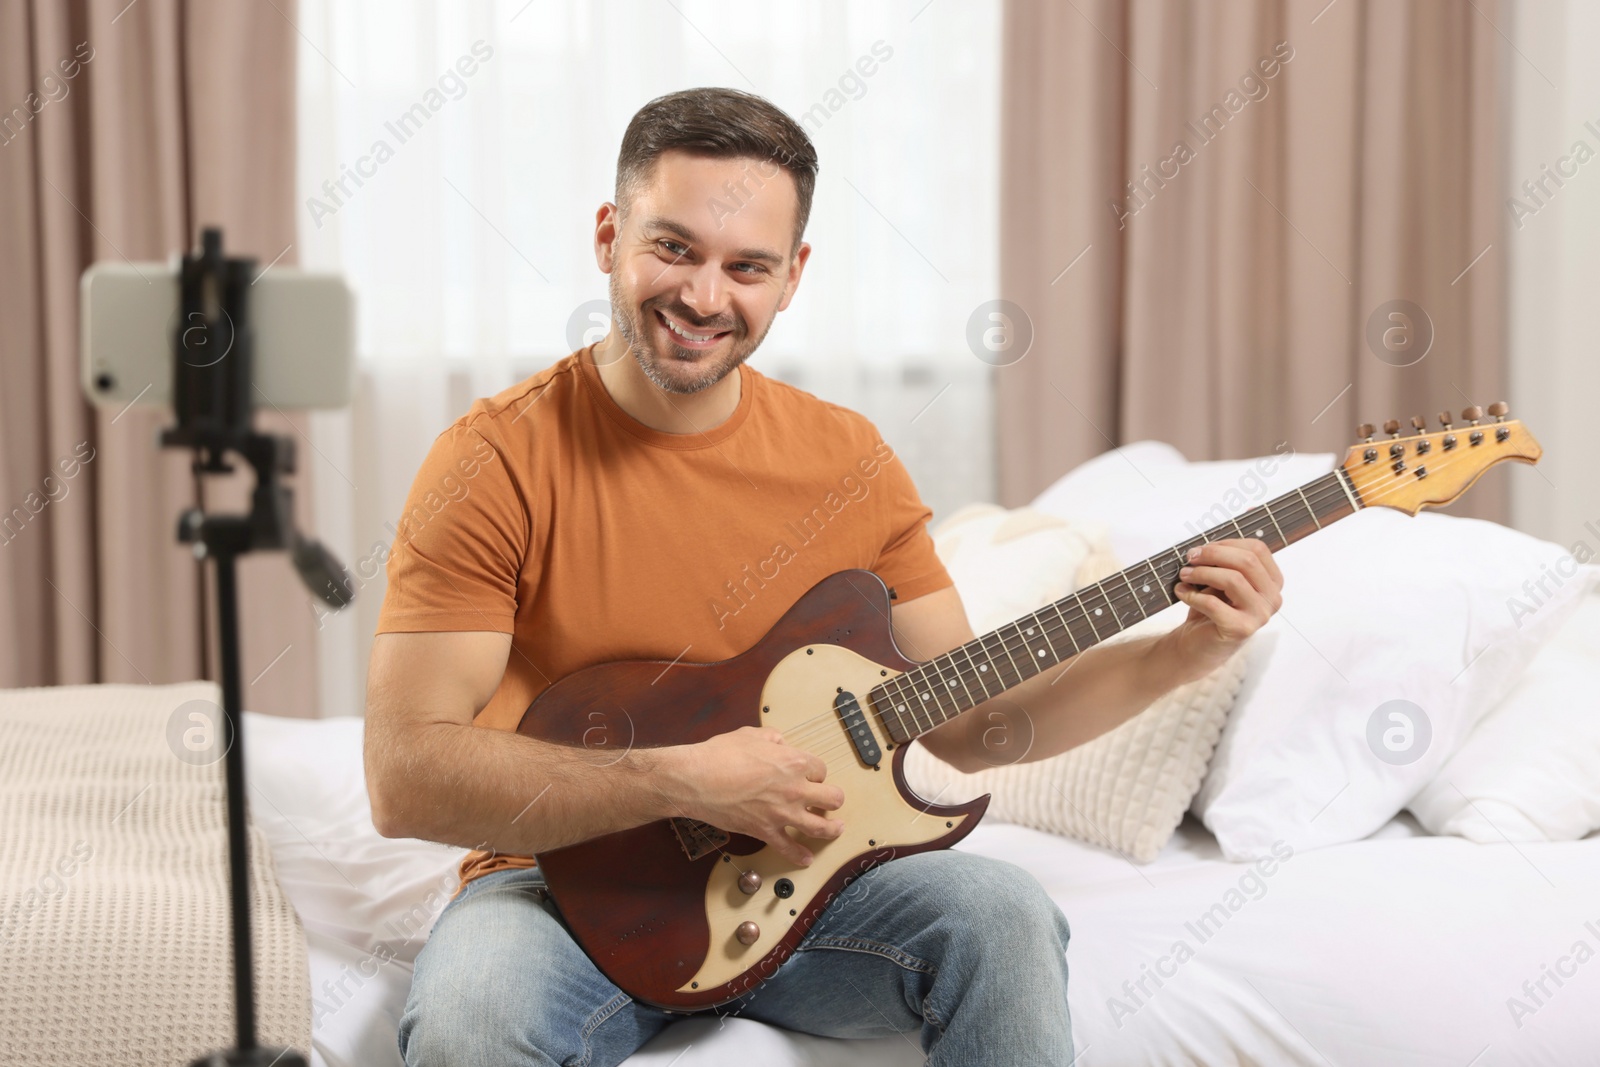
[[(293, 18), (288, 0), (0, 5), (3, 686), (218, 675), (174, 539), (189, 456), (155, 446), (162, 411), (85, 403), (78, 275), (166, 261), (203, 224), (232, 254), (294, 262)], [(261, 426), (306, 448), (301, 421)], [(243, 510), (248, 486), (208, 480), (206, 506)], [(245, 705), (314, 715), (315, 616), (288, 561), (246, 560), (240, 585)]]

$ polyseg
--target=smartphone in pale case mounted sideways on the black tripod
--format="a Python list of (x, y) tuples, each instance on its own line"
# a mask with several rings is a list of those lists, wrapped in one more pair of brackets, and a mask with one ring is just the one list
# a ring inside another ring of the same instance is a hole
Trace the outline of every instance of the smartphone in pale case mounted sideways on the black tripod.
[[(107, 408), (171, 408), (173, 342), (182, 325), (178, 262), (98, 262), (83, 272), (83, 395)], [(325, 270), (272, 267), (250, 286), (258, 410), (349, 406), (355, 294)]]

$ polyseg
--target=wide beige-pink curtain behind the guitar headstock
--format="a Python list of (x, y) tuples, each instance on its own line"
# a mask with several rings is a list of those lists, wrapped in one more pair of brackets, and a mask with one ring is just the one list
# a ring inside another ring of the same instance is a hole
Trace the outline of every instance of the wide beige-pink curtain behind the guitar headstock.
[[(1496, 0), (1010, 0), (1002, 293), (1035, 336), (998, 371), (1002, 499), (1142, 438), (1342, 454), (1357, 422), (1515, 416), (1506, 18)], [(1451, 510), (1502, 520), (1506, 501), (1490, 475)]]

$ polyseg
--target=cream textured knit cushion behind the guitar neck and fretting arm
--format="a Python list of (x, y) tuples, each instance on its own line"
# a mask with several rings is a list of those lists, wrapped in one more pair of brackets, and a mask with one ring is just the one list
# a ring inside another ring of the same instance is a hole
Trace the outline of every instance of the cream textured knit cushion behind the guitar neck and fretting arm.
[[(1117, 571), (1102, 531), (1030, 509), (963, 509), (941, 523), (933, 537), (979, 633)], [(1163, 611), (1107, 643), (1173, 629), (1182, 617), (1181, 608)], [(1150, 862), (1200, 789), (1243, 683), (1245, 662), (1246, 649), (1240, 649), (1205, 678), (1173, 689), (1122, 726), (1048, 760), (963, 774), (923, 745), (912, 745), (906, 753), (907, 782), (925, 800), (939, 803), (994, 793), (992, 819)], [(987, 747), (1000, 753), (1008, 731), (1002, 720), (995, 726), (1002, 744)], [(974, 728), (982, 729), (984, 723)]]

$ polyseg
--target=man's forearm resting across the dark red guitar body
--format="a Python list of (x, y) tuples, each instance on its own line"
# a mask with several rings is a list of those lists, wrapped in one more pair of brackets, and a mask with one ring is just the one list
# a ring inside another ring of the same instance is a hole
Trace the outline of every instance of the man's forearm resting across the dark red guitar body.
[(373, 819), (386, 837), (531, 856), (677, 814), (675, 752), (619, 757), (483, 726), (413, 726), (371, 745)]

